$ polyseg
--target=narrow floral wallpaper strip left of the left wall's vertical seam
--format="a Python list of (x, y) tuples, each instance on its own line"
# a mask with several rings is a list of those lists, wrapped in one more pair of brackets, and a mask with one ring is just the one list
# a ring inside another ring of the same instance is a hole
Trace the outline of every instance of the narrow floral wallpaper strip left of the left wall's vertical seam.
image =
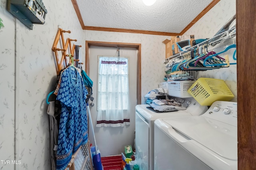
[[(13, 170), (15, 129), (15, 49), (14, 20), (5, 10), (6, 2), (0, 1), (0, 170)], [(5, 30), (8, 29), (8, 33)]]

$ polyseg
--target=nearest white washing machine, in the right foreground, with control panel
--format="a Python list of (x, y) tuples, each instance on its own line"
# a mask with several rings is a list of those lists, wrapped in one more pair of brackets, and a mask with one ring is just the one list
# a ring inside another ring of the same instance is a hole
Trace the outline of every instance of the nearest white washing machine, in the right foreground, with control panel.
[(155, 170), (237, 170), (237, 103), (204, 114), (161, 118), (154, 127)]

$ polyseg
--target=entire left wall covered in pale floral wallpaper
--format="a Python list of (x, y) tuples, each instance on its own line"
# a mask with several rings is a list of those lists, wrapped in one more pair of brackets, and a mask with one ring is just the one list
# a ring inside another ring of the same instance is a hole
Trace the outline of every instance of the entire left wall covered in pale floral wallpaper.
[(6, 2), (0, 0), (0, 18), (5, 26), (0, 29), (4, 61), (0, 64), (0, 170), (14, 170), (14, 166), (16, 170), (50, 170), (46, 96), (56, 82), (52, 44), (60, 25), (71, 31), (64, 33), (64, 39), (77, 39), (75, 44), (82, 45), (80, 56), (84, 56), (84, 31), (70, 0), (44, 0), (46, 23), (34, 24), (33, 30), (12, 17)]

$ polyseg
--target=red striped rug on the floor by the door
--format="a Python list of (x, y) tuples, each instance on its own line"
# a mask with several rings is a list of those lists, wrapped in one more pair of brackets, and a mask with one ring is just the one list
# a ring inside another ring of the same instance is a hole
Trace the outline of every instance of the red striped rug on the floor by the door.
[(104, 170), (121, 170), (122, 155), (103, 156), (101, 163)]

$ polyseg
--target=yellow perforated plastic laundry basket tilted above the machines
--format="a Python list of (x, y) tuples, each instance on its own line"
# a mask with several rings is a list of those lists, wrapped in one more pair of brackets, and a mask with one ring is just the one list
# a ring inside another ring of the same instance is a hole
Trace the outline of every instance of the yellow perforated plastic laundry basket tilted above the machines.
[(230, 101), (234, 95), (224, 82), (215, 78), (198, 78), (188, 93), (201, 105), (211, 106), (213, 102)]

